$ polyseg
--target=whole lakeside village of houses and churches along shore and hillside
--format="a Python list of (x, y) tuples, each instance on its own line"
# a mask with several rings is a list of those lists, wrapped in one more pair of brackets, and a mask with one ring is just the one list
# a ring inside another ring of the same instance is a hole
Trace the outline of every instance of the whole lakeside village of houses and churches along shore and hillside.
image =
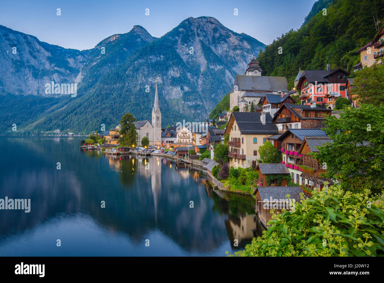
[[(357, 51), (361, 62), (354, 72), (382, 64), (383, 39), (381, 28), (372, 42)], [(133, 122), (136, 142), (119, 144), (123, 135), (118, 124), (109, 131), (94, 132), (81, 147), (116, 156), (162, 156), (197, 166), (206, 170), (214, 188), (253, 195), (259, 219), (267, 227), (270, 210), (281, 211), (281, 205), (284, 209), (287, 195), (300, 201), (301, 193), (308, 198), (338, 182), (324, 178), (326, 164), (313, 154), (333, 142), (324, 131), (326, 117), (339, 117), (344, 105), (360, 105), (352, 92), (354, 79), (347, 78), (350, 73), (331, 69), (330, 64), (324, 67), (299, 69), (294, 86), (288, 89), (285, 77), (263, 76), (262, 66), (253, 57), (245, 75), (237, 75), (233, 82), (230, 108), (218, 119), (197, 122), (197, 127), (185, 121), (162, 127), (156, 82), (152, 123)], [(276, 158), (265, 158), (263, 151)], [(277, 206), (272, 206), (272, 200)]]

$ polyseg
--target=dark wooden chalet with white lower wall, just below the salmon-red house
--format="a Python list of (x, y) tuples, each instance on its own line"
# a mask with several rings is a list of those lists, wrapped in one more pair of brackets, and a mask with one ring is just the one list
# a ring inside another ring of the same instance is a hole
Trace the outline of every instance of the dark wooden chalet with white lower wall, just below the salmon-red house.
[(284, 103), (272, 118), (280, 133), (287, 129), (319, 129), (323, 128), (324, 114), (331, 115), (330, 109), (311, 105)]

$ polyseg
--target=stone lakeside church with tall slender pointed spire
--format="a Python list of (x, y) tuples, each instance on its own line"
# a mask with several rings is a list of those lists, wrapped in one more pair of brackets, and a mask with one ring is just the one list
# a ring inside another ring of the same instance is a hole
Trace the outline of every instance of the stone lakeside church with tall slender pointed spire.
[(152, 124), (148, 120), (134, 122), (137, 131), (137, 145), (141, 146), (141, 139), (147, 137), (150, 146), (161, 144), (161, 111), (159, 105), (159, 93), (157, 92), (157, 81), (155, 91), (155, 102), (152, 108)]

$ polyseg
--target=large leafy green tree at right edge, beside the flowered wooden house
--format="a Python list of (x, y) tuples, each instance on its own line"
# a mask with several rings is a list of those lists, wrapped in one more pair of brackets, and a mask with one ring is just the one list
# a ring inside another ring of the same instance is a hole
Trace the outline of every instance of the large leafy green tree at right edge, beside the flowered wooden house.
[(324, 124), (333, 142), (313, 156), (326, 167), (325, 177), (338, 179), (345, 190), (383, 189), (384, 104), (347, 108), (339, 119), (328, 116)]

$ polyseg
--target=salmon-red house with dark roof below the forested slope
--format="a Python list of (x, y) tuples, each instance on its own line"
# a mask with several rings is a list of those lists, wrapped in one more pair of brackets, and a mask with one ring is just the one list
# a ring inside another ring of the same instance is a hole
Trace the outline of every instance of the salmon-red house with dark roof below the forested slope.
[(327, 64), (326, 70), (305, 70), (298, 80), (301, 105), (311, 102), (325, 103), (326, 94), (346, 97), (346, 84), (349, 72), (341, 68), (331, 70)]

